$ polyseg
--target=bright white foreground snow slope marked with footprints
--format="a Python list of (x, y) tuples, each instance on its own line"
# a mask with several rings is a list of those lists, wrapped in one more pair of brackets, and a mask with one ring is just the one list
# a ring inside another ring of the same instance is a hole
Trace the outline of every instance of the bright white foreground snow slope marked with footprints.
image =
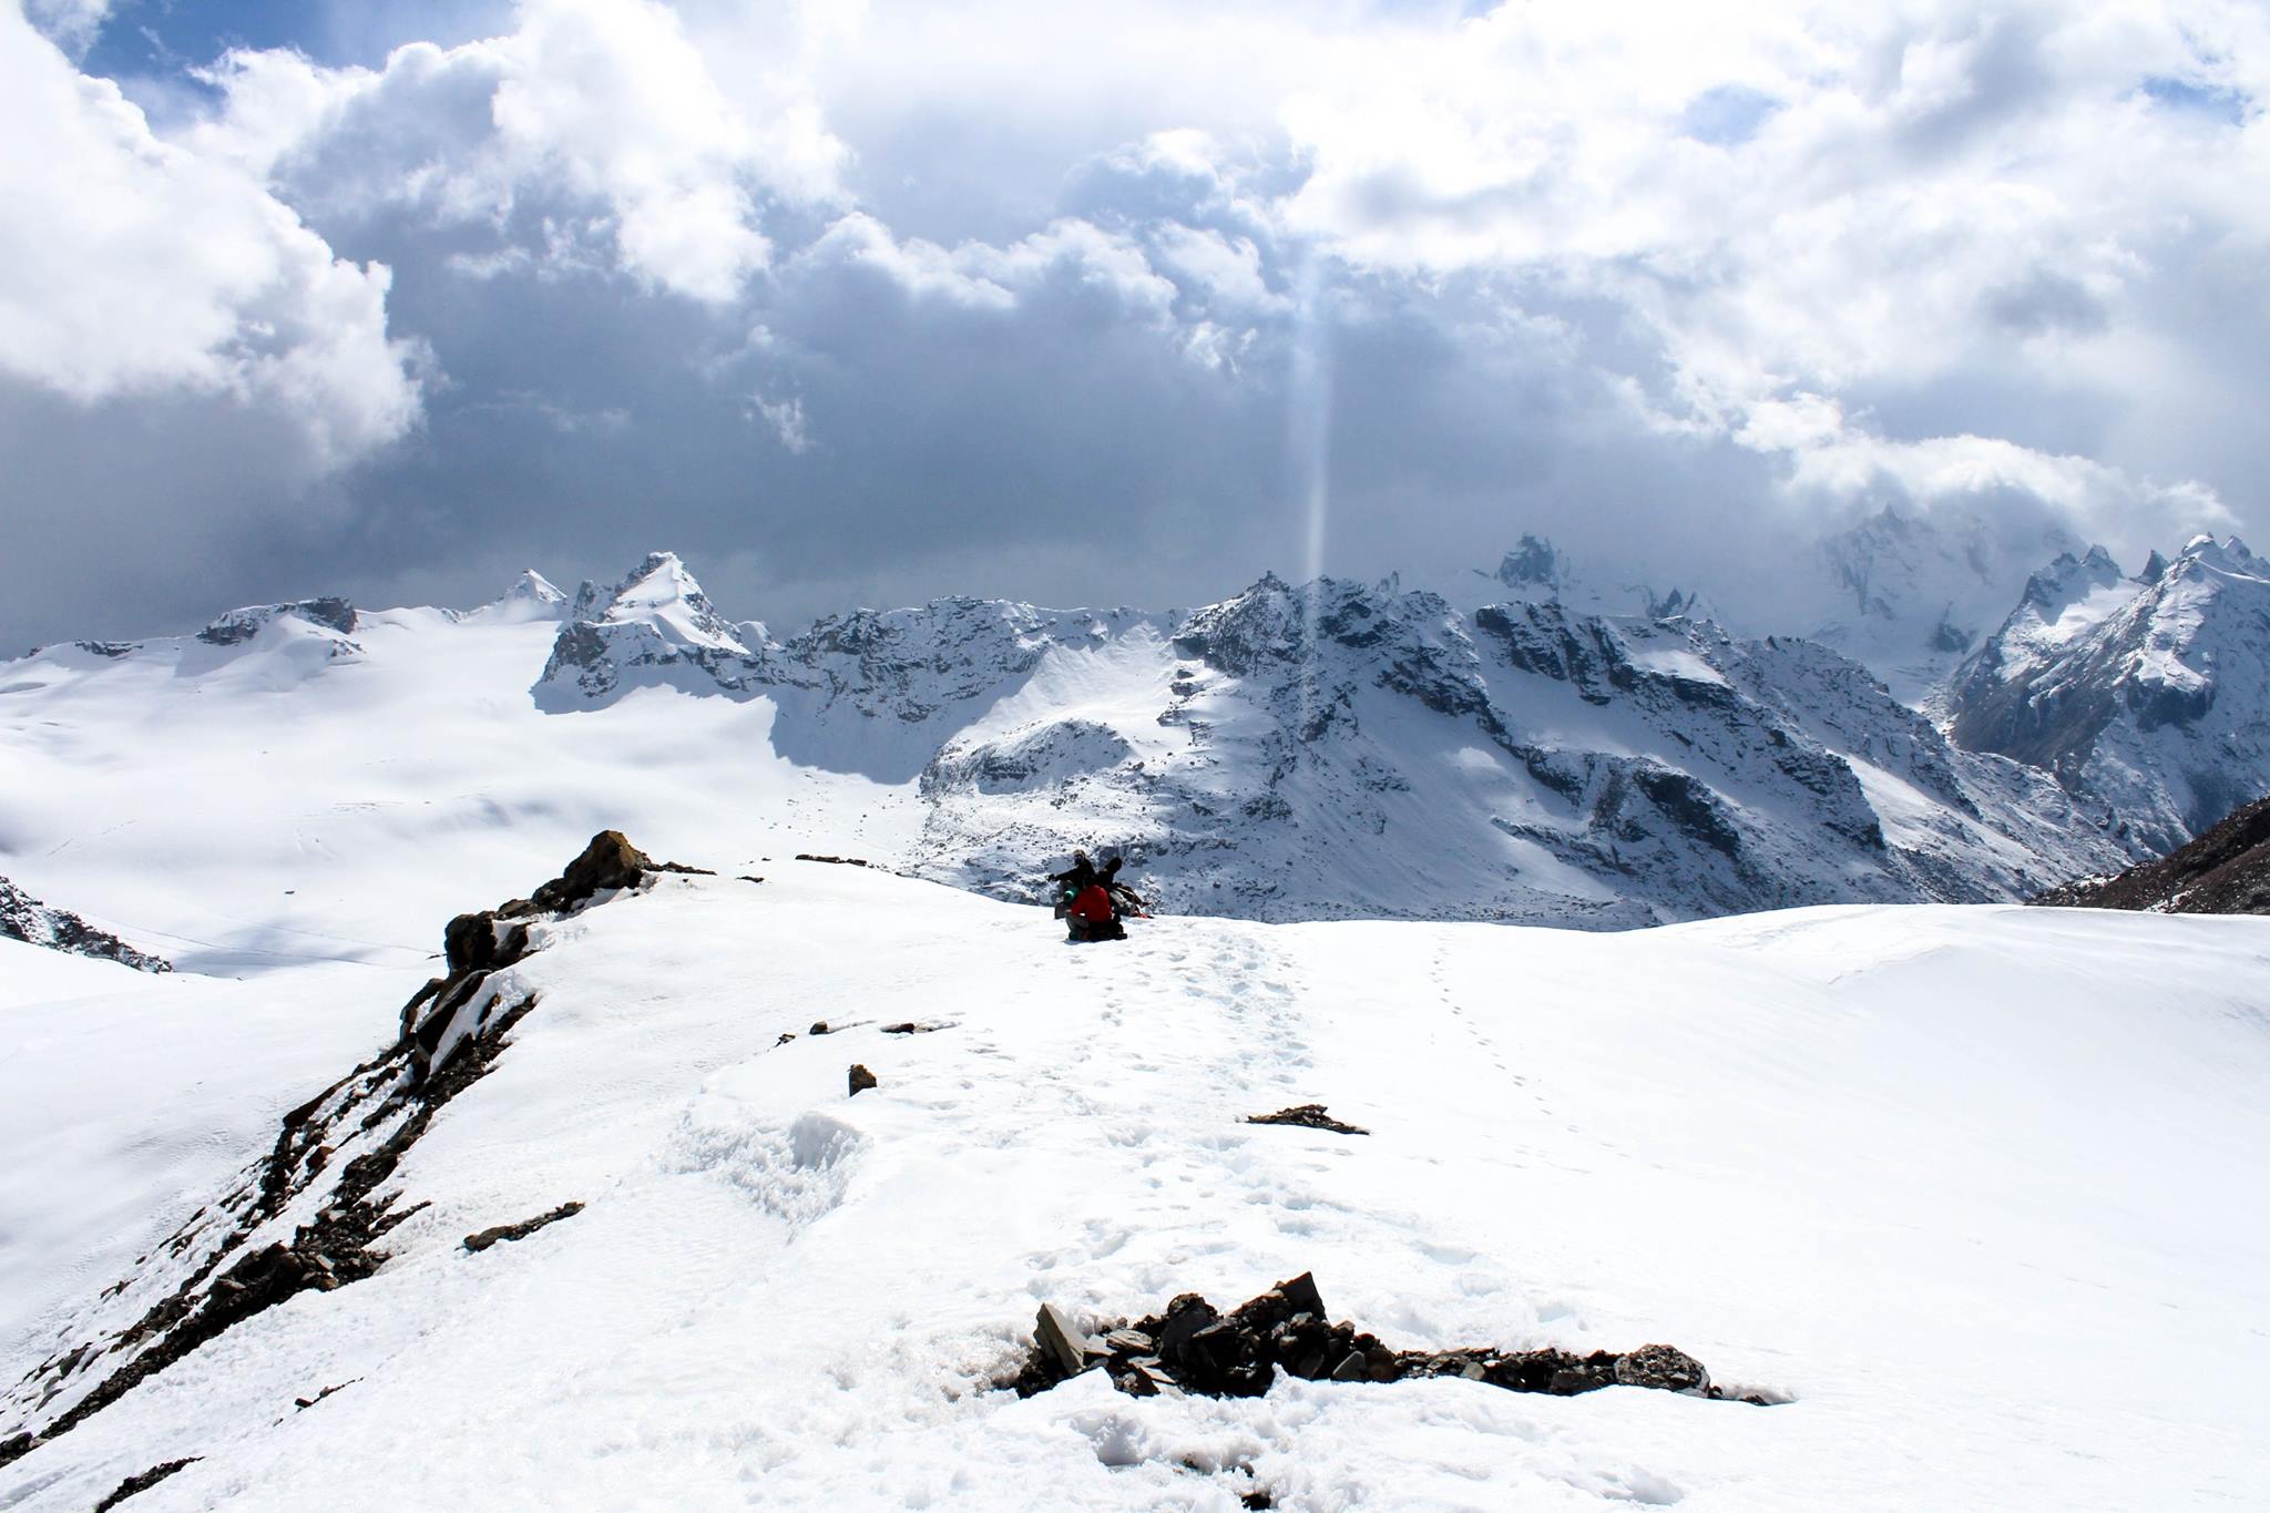
[[(2270, 1216), (2231, 1200), (2270, 1143), (2263, 921), (1174, 919), (1067, 948), (1037, 910), (790, 864), (661, 878), (531, 944), (490, 987), (536, 1005), (381, 1182), (390, 1259), (0, 1468), (0, 1506), (77, 1513), (184, 1459), (127, 1506), (2170, 1508), (2270, 1479)], [(186, 1266), (148, 1245), (188, 1205), (163, 1155), (82, 1152), (177, 1148), (225, 1093), (297, 1102), (393, 1003), (320, 1073), (182, 1039), (209, 1089), (182, 1105), (34, 1039), (0, 1107), (82, 1132), (45, 1182), (148, 1200), (132, 1302)], [(854, 1062), (881, 1084), (847, 1098)], [(1310, 1100), (1373, 1134), (1239, 1123)], [(243, 1164), (272, 1134), (218, 1139)], [(11, 1232), (36, 1195), (0, 1200)], [(1673, 1341), (1793, 1402), (985, 1391), (1040, 1302), (1301, 1270), (1396, 1345)], [(0, 1377), (125, 1302), (77, 1291)], [(16, 1388), (0, 1438), (84, 1391)]]

